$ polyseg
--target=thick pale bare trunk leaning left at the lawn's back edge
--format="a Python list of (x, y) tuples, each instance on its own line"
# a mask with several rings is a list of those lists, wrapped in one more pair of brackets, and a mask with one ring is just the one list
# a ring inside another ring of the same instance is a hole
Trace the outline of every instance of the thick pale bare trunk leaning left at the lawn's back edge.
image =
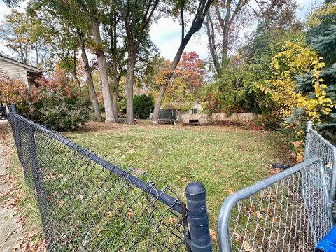
[(105, 122), (106, 123), (117, 123), (117, 118), (113, 115), (113, 104), (111, 97), (111, 90), (109, 86), (109, 76), (107, 72), (106, 66), (106, 57), (104, 54), (104, 50), (102, 50), (102, 38), (100, 36), (99, 22), (97, 18), (91, 18), (91, 26), (92, 26), (92, 36), (94, 42), (96, 43), (97, 49), (95, 51), (98, 60), (98, 67), (100, 73), (100, 80), (102, 80), (102, 88), (103, 88), (103, 99), (104, 99), (104, 107), (105, 107)]

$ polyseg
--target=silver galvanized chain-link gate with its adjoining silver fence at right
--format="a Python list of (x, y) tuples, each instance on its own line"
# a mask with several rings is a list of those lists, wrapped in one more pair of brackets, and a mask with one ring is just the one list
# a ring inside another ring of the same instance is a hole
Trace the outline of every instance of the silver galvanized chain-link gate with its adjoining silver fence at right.
[(307, 127), (304, 162), (230, 195), (221, 251), (314, 251), (335, 224), (336, 148)]

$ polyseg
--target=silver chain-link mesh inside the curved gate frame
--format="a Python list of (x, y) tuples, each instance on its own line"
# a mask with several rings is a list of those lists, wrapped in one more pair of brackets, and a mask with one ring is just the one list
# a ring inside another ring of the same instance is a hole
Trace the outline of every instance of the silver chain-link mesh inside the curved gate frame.
[(239, 200), (230, 214), (231, 251), (314, 251), (331, 228), (319, 169), (316, 160)]

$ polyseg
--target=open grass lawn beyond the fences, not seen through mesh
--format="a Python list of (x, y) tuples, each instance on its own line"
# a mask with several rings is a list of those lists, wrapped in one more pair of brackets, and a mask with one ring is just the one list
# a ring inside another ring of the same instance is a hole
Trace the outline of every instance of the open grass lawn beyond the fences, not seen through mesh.
[(214, 230), (225, 197), (265, 179), (272, 162), (288, 158), (288, 145), (279, 132), (237, 127), (89, 123), (63, 134), (124, 167), (146, 171), (159, 188), (168, 186), (183, 200), (186, 185), (200, 181), (207, 188)]

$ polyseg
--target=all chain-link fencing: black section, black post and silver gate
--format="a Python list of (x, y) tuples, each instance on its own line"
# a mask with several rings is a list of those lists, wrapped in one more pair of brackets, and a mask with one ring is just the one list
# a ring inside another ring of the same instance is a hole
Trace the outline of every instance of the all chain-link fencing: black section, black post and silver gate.
[[(211, 251), (205, 188), (187, 204), (144, 172), (122, 169), (10, 113), (25, 179), (38, 197), (48, 251)], [(304, 162), (230, 195), (221, 251), (314, 251), (335, 223), (336, 148), (308, 123)]]

